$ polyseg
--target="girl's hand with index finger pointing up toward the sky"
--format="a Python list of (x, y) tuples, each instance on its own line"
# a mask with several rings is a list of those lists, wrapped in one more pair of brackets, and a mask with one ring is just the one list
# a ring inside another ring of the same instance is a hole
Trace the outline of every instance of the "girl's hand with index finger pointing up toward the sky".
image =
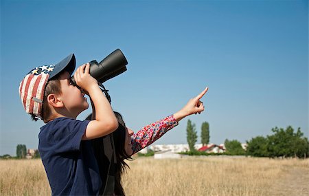
[(190, 99), (187, 102), (187, 105), (185, 105), (185, 107), (183, 107), (183, 109), (181, 109), (180, 111), (174, 113), (174, 118), (179, 121), (183, 118), (185, 118), (186, 116), (189, 116), (193, 113), (201, 113), (202, 111), (204, 111), (204, 105), (203, 102), (201, 102), (201, 98), (206, 94), (208, 90), (208, 87), (206, 87), (201, 94), (199, 94), (198, 96), (196, 96), (195, 98)]

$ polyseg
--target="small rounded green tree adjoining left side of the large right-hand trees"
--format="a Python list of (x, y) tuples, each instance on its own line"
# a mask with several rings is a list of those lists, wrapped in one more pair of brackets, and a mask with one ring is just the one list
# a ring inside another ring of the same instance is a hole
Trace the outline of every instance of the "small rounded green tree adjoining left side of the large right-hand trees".
[(255, 157), (268, 157), (267, 151), (267, 138), (262, 136), (258, 136), (252, 138), (249, 142), (247, 141), (247, 155), (255, 156)]

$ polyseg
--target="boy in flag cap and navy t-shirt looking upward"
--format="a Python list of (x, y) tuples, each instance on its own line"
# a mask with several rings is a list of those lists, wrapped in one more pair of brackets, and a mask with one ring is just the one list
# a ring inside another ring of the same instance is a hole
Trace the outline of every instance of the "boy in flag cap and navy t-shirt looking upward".
[[(89, 74), (89, 63), (76, 70), (74, 54), (56, 65), (32, 69), (19, 86), (23, 107), (33, 119), (46, 124), (38, 135), (38, 150), (52, 195), (98, 195), (102, 181), (90, 140), (115, 131), (117, 118), (98, 81)], [(94, 120), (76, 120), (93, 100)]]

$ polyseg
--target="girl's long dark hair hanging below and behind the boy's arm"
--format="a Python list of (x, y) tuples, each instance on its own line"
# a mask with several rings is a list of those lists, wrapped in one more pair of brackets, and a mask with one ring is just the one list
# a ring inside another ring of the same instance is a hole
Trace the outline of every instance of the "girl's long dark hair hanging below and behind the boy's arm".
[[(124, 120), (122, 118), (122, 115), (118, 113), (117, 111), (114, 111), (115, 116), (118, 120), (118, 128), (116, 131), (111, 133), (113, 135), (113, 142), (115, 146), (115, 157), (117, 160), (117, 163), (115, 164), (115, 186), (114, 186), (114, 193), (115, 195), (125, 195), (124, 194), (124, 188), (122, 187), (122, 175), (126, 172), (126, 168), (130, 168), (124, 160), (132, 160), (130, 155), (126, 153), (125, 149), (125, 141), (126, 141), (126, 124), (124, 123)], [(91, 120), (91, 115), (87, 117), (87, 120)], [(106, 136), (104, 136), (106, 137)], [(98, 162), (99, 170), (100, 170), (100, 177), (102, 179), (103, 185), (100, 190), (100, 195), (103, 194), (104, 191), (104, 182), (106, 182), (106, 177), (108, 176), (108, 166), (106, 166), (106, 163), (108, 163), (108, 159), (106, 155), (104, 154), (104, 144), (103, 139), (96, 138), (91, 140), (92, 146), (93, 146), (93, 152), (95, 154), (95, 158)], [(111, 152), (114, 153), (114, 152)]]

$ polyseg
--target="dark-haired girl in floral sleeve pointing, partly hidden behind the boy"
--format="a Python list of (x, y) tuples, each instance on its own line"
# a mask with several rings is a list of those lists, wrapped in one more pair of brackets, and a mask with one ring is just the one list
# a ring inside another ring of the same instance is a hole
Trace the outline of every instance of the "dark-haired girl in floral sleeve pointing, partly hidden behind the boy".
[[(180, 111), (148, 124), (135, 134), (126, 127), (120, 113), (115, 112), (119, 123), (118, 129), (110, 135), (93, 140), (93, 151), (98, 160), (103, 182), (100, 195), (125, 195), (121, 177), (128, 165), (124, 160), (131, 160), (131, 155), (161, 138), (167, 131), (178, 125), (181, 119), (193, 113), (204, 111), (204, 105), (200, 99), (207, 90), (208, 87), (201, 94), (190, 99)], [(91, 119), (91, 116), (89, 116), (89, 119)]]

